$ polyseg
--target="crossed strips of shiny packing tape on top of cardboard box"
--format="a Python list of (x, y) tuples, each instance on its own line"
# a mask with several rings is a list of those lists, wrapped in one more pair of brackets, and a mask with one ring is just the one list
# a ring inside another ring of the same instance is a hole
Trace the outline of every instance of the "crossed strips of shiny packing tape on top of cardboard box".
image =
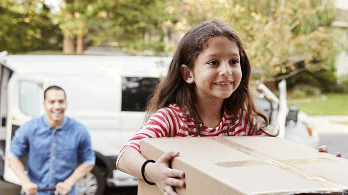
[(319, 162), (337, 162), (333, 159), (328, 158), (315, 158), (315, 159), (295, 159), (295, 160), (279, 160), (267, 154), (261, 153), (255, 149), (252, 149), (247, 146), (243, 146), (241, 144), (235, 143), (224, 137), (205, 137), (207, 139), (213, 140), (225, 146), (232, 147), (240, 152), (249, 154), (254, 157), (261, 158), (261, 160), (252, 160), (252, 161), (235, 161), (235, 162), (218, 162), (215, 163), (218, 166), (222, 167), (236, 167), (236, 166), (250, 166), (250, 165), (274, 165), (281, 169), (284, 169), (288, 172), (296, 174), (302, 178), (305, 178), (311, 182), (315, 182), (323, 187), (331, 187), (331, 188), (339, 188), (345, 192), (347, 192), (348, 187), (346, 185), (340, 184), (337, 181), (331, 180), (324, 176), (311, 173), (306, 169), (301, 167), (293, 166), (293, 164), (303, 164), (303, 163), (319, 163)]

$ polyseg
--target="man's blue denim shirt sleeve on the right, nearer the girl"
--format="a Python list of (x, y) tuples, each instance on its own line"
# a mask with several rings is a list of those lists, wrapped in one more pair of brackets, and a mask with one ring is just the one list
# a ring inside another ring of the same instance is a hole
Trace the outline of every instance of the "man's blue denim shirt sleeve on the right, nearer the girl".
[(78, 148), (78, 159), (82, 163), (87, 163), (94, 166), (95, 164), (95, 153), (92, 149), (90, 135), (86, 127), (83, 128), (83, 133), (81, 136), (79, 148)]

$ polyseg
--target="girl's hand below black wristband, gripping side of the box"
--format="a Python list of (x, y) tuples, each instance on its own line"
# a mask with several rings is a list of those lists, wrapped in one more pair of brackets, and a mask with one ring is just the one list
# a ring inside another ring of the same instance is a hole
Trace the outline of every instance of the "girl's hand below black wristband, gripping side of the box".
[(145, 166), (145, 175), (150, 182), (155, 183), (164, 195), (177, 195), (173, 187), (185, 187), (185, 182), (176, 178), (185, 176), (183, 171), (170, 168), (170, 161), (180, 154), (179, 151), (164, 153), (155, 163)]

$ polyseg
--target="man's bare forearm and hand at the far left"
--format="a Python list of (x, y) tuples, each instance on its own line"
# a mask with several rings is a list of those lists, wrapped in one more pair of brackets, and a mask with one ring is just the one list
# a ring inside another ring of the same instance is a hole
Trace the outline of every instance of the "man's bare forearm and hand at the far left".
[(19, 159), (11, 158), (8, 159), (9, 167), (18, 176), (22, 182), (22, 188), (26, 195), (36, 195), (37, 185), (32, 183), (28, 176), (25, 174), (25, 168), (23, 163)]

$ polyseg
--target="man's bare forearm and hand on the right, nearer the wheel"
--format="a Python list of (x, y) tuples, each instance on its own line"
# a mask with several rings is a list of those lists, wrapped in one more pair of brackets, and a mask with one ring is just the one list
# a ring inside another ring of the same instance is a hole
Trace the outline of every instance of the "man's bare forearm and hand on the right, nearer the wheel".
[(66, 195), (71, 191), (71, 188), (80, 179), (84, 178), (89, 171), (93, 169), (93, 166), (87, 163), (80, 164), (64, 182), (59, 182), (56, 185), (55, 195)]

